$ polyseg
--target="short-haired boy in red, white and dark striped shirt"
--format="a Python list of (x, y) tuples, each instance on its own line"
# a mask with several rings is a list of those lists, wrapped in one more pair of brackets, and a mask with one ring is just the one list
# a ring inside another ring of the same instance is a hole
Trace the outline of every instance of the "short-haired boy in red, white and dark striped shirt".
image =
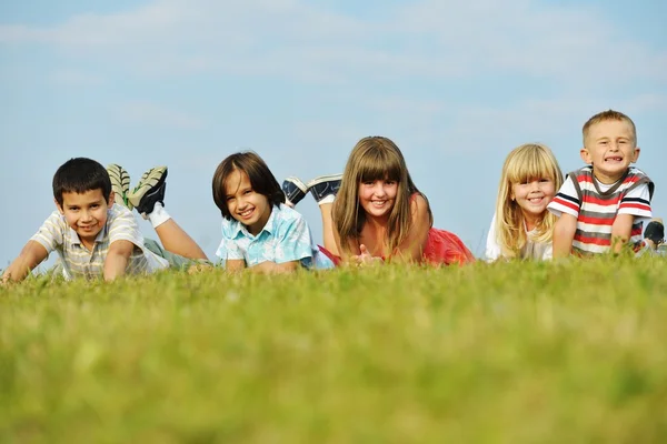
[(638, 250), (654, 183), (630, 167), (639, 158), (635, 123), (608, 110), (590, 118), (583, 133), (580, 155), (588, 165), (569, 173), (548, 205), (559, 216), (554, 258), (619, 252), (628, 242)]

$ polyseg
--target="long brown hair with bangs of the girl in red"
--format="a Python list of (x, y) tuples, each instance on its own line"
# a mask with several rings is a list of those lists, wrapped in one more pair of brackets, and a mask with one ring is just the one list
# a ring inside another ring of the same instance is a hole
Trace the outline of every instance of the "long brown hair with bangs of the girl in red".
[[(341, 250), (350, 253), (349, 241), (359, 240), (366, 211), (359, 204), (359, 184), (376, 180), (392, 180), (398, 183), (398, 192), (387, 223), (386, 245), (389, 251), (400, 245), (408, 236), (412, 223), (410, 198), (415, 193), (424, 195), (410, 178), (402, 153), (391, 140), (379, 135), (361, 139), (350, 153), (340, 190), (332, 209), (334, 225), (340, 235)], [(428, 205), (429, 220), (432, 214)]]

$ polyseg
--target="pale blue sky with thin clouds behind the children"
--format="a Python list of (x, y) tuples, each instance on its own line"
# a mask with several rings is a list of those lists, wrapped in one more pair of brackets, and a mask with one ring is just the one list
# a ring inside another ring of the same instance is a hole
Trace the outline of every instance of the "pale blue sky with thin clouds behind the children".
[[(538, 141), (574, 170), (581, 125), (609, 108), (634, 119), (665, 216), (666, 4), (2, 2), (0, 266), (54, 209), (52, 174), (72, 157), (133, 180), (169, 165), (166, 206), (212, 256), (226, 155), (253, 149), (277, 178), (309, 180), (376, 134), (401, 148), (435, 225), (480, 254), (505, 155)], [(315, 202), (298, 209), (321, 241)]]

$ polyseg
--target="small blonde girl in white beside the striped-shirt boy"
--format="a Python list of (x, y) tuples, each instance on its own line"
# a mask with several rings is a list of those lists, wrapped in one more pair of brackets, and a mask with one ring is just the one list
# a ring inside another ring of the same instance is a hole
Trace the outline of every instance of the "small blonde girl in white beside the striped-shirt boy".
[(560, 167), (548, 147), (526, 143), (507, 155), (487, 236), (487, 261), (551, 259), (556, 216), (547, 205), (561, 184)]

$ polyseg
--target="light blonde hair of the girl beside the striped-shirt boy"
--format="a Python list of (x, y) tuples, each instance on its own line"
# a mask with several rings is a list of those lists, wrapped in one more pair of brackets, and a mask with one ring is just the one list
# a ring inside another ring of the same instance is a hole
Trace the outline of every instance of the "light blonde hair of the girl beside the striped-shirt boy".
[[(511, 199), (511, 188), (516, 183), (540, 178), (550, 179), (556, 192), (563, 185), (563, 172), (548, 147), (526, 143), (511, 150), (505, 159), (496, 201), (496, 236), (505, 258), (518, 258), (528, 241), (524, 212)], [(531, 236), (531, 241), (549, 242), (552, 239), (556, 216), (547, 210), (545, 212), (536, 225), (537, 233)]]

